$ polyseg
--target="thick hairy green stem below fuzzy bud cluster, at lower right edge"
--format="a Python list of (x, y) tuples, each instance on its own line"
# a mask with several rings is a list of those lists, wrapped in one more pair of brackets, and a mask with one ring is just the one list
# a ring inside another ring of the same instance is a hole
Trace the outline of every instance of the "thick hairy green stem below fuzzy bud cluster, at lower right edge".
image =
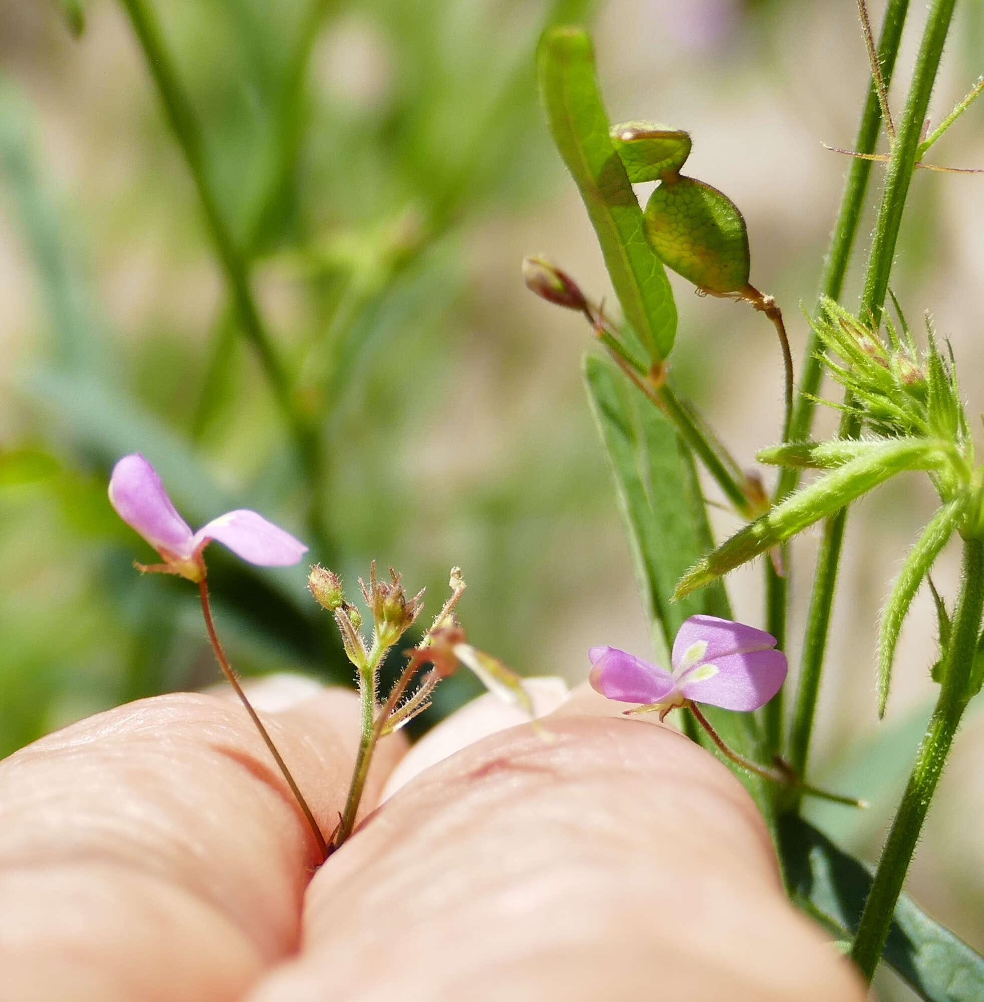
[(892, 916), (923, 822), (960, 718), (970, 701), (969, 677), (984, 612), (984, 543), (964, 541), (963, 576), (945, 651), (939, 699), (916, 757), (909, 784), (899, 805), (885, 849), (865, 902), (851, 951), (862, 974), (871, 981), (888, 938)]

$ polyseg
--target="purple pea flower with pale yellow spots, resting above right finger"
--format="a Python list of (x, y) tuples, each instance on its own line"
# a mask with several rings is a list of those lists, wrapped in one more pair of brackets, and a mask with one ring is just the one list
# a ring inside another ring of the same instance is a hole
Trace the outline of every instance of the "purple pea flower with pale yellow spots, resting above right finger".
[(764, 706), (786, 680), (786, 655), (776, 637), (716, 616), (690, 616), (673, 641), (672, 671), (617, 647), (592, 647), (591, 685), (619, 702), (669, 710), (688, 702), (724, 709)]

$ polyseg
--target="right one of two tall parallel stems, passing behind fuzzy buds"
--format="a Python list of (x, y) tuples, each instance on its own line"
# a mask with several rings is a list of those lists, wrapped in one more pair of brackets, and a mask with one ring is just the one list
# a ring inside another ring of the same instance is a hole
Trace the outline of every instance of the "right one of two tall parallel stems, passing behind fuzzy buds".
[[(919, 151), (919, 137), (936, 74), (939, 71), (943, 44), (953, 17), (954, 3), (955, 0), (935, 0), (923, 32), (906, 108), (899, 123), (896, 142), (892, 147), (885, 190), (875, 225), (875, 236), (868, 258), (868, 270), (861, 300), (862, 317), (880, 318), (885, 304), (889, 275), (902, 224), (902, 213)], [(846, 400), (846, 403), (850, 401)], [(852, 413), (845, 412), (841, 421), (841, 437), (855, 438), (859, 431), (860, 423), (857, 418)], [(847, 509), (844, 509), (834, 515), (824, 527), (814, 589), (810, 599), (792, 739), (793, 768), (801, 774), (806, 769), (809, 756), (810, 735), (816, 712), (817, 693), (820, 688), (846, 521)]]

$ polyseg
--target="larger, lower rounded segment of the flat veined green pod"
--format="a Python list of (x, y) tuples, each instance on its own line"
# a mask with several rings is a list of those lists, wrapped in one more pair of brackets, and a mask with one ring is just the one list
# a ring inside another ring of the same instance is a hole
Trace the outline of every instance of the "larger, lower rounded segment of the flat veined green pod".
[(645, 206), (645, 232), (662, 263), (717, 296), (749, 284), (749, 232), (737, 206), (692, 177), (663, 178)]

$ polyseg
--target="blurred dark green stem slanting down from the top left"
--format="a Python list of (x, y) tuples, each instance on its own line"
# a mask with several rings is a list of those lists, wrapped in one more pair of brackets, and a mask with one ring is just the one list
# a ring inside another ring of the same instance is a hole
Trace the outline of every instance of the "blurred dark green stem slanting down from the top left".
[(167, 121), (174, 133), (198, 192), (208, 232), (228, 285), (235, 315), (247, 339), (254, 346), (267, 375), (274, 396), (294, 438), (295, 448), (309, 481), (312, 495), (310, 530), (315, 536), (318, 556), (330, 557), (320, 501), (325, 486), (325, 471), (320, 436), (297, 406), (287, 371), (278, 355), (250, 286), (245, 259), (236, 247), (222, 218), (218, 202), (208, 181), (204, 140), (191, 106), (181, 86), (177, 69), (164, 44), (160, 26), (146, 0), (122, 0), (130, 23), (146, 58), (147, 67), (157, 86)]

